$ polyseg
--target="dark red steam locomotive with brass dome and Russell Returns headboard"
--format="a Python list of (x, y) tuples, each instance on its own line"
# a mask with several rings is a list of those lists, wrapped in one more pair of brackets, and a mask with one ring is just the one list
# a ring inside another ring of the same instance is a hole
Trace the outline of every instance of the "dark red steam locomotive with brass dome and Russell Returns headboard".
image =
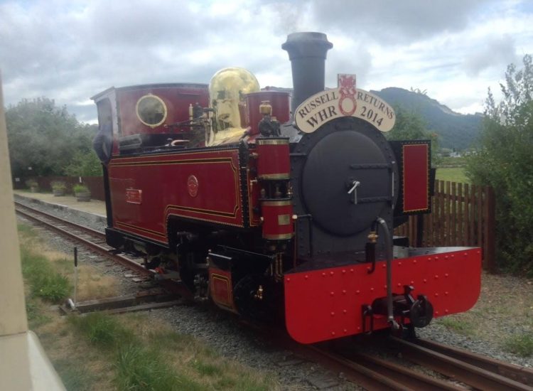
[(288, 36), (291, 102), (242, 68), (92, 97), (107, 243), (301, 343), (470, 309), (480, 249), (414, 248), (392, 232), (431, 212), (429, 141), (387, 141), (394, 110), (354, 75), (325, 90), (332, 47), (323, 33)]

